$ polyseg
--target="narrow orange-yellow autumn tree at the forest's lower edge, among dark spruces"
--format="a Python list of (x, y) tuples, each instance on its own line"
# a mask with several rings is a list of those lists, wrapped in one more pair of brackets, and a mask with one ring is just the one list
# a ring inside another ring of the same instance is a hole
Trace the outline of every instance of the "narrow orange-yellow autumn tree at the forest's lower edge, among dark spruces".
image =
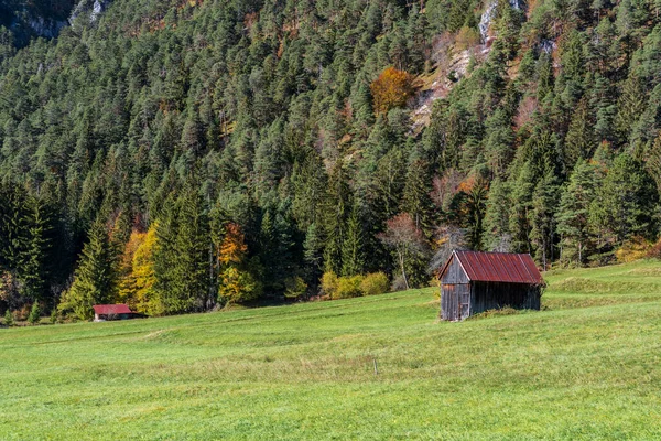
[(226, 305), (256, 299), (261, 292), (260, 283), (247, 268), (246, 245), (241, 227), (227, 223), (225, 237), (218, 247), (218, 263), (220, 263), (220, 283), (218, 297)]

